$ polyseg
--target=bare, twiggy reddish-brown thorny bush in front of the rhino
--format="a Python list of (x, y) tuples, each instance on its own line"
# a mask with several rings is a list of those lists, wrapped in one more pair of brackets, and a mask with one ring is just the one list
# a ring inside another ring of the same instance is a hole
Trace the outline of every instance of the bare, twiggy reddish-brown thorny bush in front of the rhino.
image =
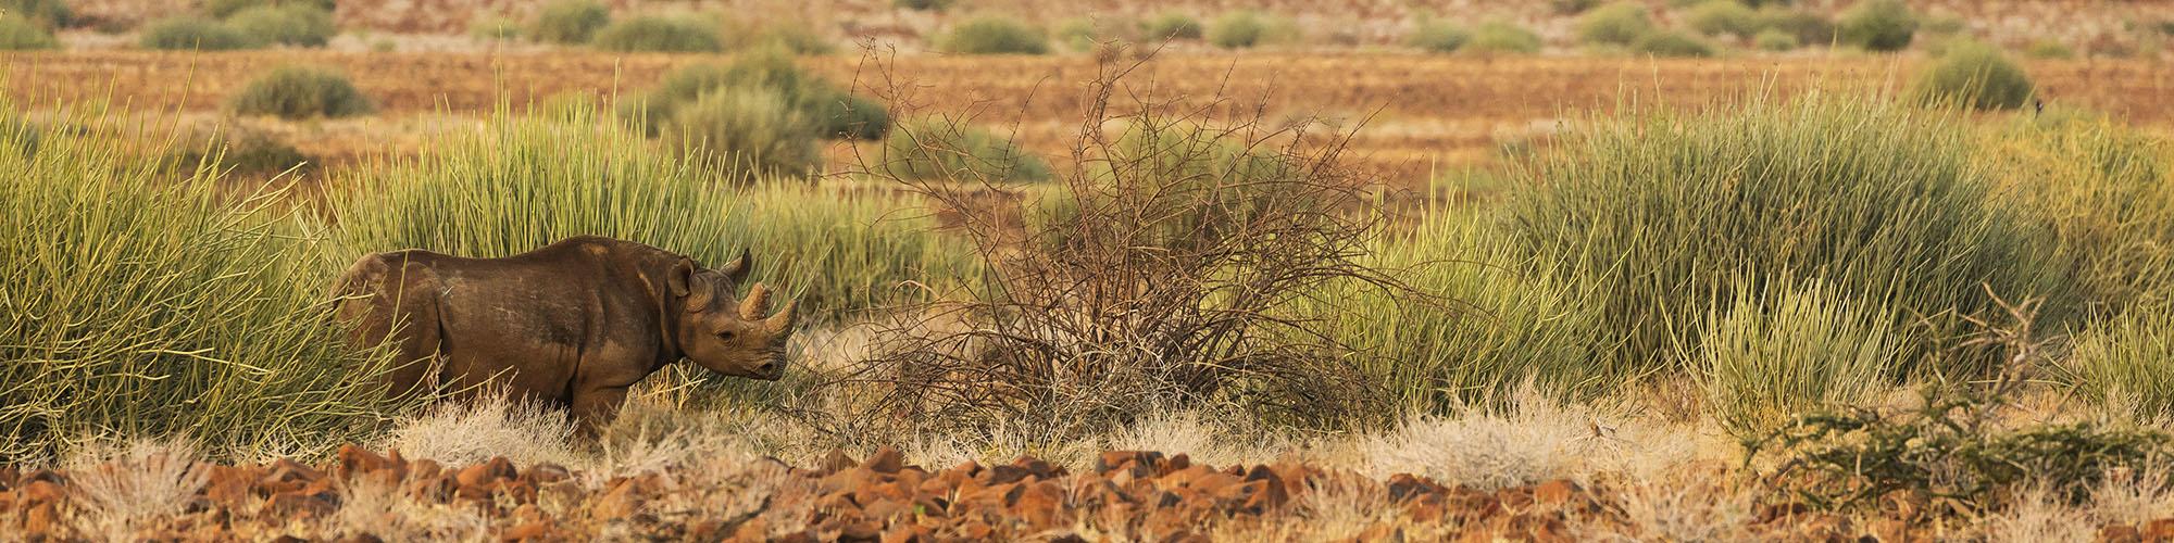
[[(1072, 163), (1052, 185), (1007, 185), (1007, 163), (954, 146), (974, 115), (902, 135), (970, 167), (909, 178), (861, 156), (854, 174), (957, 213), (946, 228), (989, 267), (952, 295), (963, 302), (902, 311), (911, 317), (830, 382), (870, 397), (833, 428), (1011, 426), (1059, 439), (1170, 408), (1296, 426), (1387, 413), (1357, 376), (1361, 354), (1294, 311), (1335, 306), (1307, 300), (1335, 280), (1411, 291), (1357, 263), (1380, 215), (1365, 211), (1374, 178), (1339, 163), (1350, 135), (1272, 126), (1259, 104), (1230, 122), (1228, 100), (1128, 85), (1148, 61), (1104, 63), (1087, 85)], [(913, 91), (894, 85), (885, 98), (911, 111)], [(989, 204), (1020, 193), (1041, 198)]]

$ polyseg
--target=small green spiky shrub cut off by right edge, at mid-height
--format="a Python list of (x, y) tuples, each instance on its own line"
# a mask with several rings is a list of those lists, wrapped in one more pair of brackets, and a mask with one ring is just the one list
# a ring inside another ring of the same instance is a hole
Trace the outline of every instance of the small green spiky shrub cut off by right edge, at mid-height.
[(2096, 321), (2076, 334), (2065, 369), (2085, 397), (2139, 419), (2174, 417), (2174, 311), (2146, 306)]

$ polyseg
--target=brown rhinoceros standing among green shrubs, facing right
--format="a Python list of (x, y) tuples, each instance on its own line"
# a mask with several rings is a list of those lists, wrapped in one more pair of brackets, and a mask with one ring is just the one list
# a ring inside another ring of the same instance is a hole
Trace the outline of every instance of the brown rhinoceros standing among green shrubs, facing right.
[(717, 269), (609, 237), (572, 237), (507, 258), (378, 252), (335, 285), (350, 341), (391, 341), (387, 393), (476, 391), (557, 404), (594, 434), (626, 389), (680, 358), (757, 380), (785, 374), (796, 302), (765, 315), (746, 250)]

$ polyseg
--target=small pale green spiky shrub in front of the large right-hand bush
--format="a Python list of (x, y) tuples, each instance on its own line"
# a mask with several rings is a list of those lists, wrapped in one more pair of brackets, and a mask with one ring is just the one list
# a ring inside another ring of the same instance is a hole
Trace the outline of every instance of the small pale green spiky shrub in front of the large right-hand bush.
[(1822, 285), (1770, 285), (1711, 308), (1694, 358), (1707, 411), (1737, 437), (1774, 432), (1820, 408), (1857, 406), (1885, 389), (1896, 358), (1887, 311), (1852, 306)]

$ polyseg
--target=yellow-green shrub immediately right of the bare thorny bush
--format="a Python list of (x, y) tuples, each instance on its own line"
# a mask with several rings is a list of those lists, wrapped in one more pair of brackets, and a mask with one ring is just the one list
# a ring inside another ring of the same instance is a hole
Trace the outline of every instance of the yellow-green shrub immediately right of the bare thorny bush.
[(1326, 330), (1363, 352), (1365, 376), (1407, 411), (1450, 415), (1513, 397), (1528, 382), (1554, 397), (1596, 397), (1633, 378), (1594, 363), (1600, 313), (1587, 311), (1585, 293), (1530, 272), (1541, 263), (1502, 243), (1494, 219), (1441, 209), (1409, 232), (1376, 239), (1365, 265), (1457, 302), (1424, 304), (1339, 282), (1317, 295)]

